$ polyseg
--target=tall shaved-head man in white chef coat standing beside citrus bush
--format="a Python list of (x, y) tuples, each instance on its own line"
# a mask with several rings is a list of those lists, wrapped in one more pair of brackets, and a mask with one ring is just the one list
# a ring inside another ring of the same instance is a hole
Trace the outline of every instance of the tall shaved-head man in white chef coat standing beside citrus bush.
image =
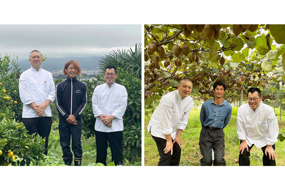
[(31, 68), (23, 72), (19, 79), (20, 98), (23, 102), (23, 123), (28, 134), (39, 134), (45, 138), (47, 155), (48, 136), (50, 135), (50, 103), (55, 99), (53, 75), (41, 68), (42, 55), (38, 50), (30, 53)]

